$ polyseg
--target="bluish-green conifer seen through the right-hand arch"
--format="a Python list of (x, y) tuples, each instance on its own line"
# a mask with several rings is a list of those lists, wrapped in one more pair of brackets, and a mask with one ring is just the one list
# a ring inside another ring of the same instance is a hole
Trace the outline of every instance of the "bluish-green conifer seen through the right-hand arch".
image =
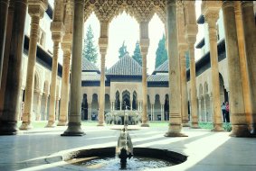
[(156, 49), (155, 68), (163, 64), (166, 61), (166, 59), (167, 59), (166, 37), (165, 37), (165, 34), (163, 34), (163, 37), (161, 40), (159, 40), (158, 47)]

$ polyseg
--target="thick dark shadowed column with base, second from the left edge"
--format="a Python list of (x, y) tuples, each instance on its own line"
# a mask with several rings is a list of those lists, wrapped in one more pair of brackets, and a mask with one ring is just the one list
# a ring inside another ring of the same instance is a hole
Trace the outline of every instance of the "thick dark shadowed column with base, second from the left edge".
[(22, 85), (21, 73), (26, 10), (26, 0), (14, 0), (14, 22), (6, 76), (4, 109), (0, 121), (0, 135), (14, 135), (18, 131), (17, 117)]

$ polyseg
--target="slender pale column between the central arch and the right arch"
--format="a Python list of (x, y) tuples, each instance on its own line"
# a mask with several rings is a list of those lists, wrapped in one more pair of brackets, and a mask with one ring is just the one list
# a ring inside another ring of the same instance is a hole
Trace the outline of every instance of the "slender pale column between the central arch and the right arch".
[(149, 47), (148, 22), (139, 23), (140, 52), (142, 56), (142, 123), (141, 127), (149, 127), (147, 123), (147, 50)]

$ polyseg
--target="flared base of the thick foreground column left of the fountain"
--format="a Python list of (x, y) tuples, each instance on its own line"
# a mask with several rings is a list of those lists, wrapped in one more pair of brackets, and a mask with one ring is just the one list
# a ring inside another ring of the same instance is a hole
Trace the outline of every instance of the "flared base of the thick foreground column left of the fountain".
[(83, 135), (85, 135), (85, 133), (83, 130), (81, 130), (80, 122), (69, 122), (68, 129), (61, 134), (61, 136), (83, 136)]

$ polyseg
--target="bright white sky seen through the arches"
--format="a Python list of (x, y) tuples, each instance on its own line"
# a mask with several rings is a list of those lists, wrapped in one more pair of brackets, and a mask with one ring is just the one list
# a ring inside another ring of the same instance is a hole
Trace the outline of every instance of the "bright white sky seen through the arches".
[[(49, 0), (49, 3), (53, 6), (53, 0)], [(195, 2), (195, 12), (197, 19), (201, 14), (201, 1)], [(90, 14), (90, 17), (84, 23), (84, 35), (86, 34), (89, 25), (91, 26), (94, 34), (94, 44), (98, 47), (98, 40), (100, 37), (100, 22), (94, 13)], [(148, 25), (148, 31), (150, 44), (147, 53), (147, 73), (151, 74), (155, 69), (156, 49), (158, 42), (165, 32), (164, 23), (161, 22), (156, 14), (153, 16)], [(196, 42), (202, 40), (204, 37), (204, 34), (202, 33), (204, 32), (203, 25), (198, 25), (198, 32), (200, 34), (197, 35)], [(125, 12), (116, 16), (109, 23), (109, 47), (106, 55), (106, 67), (112, 67), (119, 60), (119, 48), (121, 47), (123, 41), (125, 41), (129, 55), (132, 56), (137, 40), (139, 40), (139, 25), (136, 19), (132, 18)], [(96, 66), (100, 68), (99, 49), (98, 54), (99, 56)], [(199, 59), (200, 57), (200, 50), (195, 49), (195, 60)]]

